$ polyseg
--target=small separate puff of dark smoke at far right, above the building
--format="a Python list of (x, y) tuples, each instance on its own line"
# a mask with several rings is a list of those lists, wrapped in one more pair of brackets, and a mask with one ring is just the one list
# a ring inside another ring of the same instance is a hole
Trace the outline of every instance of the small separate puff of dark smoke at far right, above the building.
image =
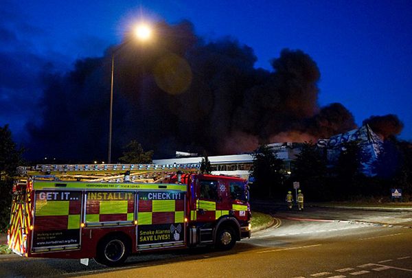
[(363, 121), (369, 127), (384, 138), (399, 135), (404, 124), (397, 115), (388, 114), (385, 116), (371, 116)]

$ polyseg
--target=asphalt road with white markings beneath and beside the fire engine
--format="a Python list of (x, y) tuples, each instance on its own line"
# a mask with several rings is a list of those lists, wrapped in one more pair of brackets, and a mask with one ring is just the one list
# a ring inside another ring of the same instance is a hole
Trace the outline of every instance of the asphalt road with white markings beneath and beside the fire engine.
[(0, 256), (1, 277), (412, 277), (412, 212), (268, 205), (275, 226), (231, 251), (130, 257), (122, 268)]

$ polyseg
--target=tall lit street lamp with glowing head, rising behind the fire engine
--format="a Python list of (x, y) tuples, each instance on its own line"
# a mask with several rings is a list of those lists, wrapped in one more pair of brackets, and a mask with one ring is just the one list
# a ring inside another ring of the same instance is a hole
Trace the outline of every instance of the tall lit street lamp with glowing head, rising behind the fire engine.
[[(146, 41), (152, 36), (152, 28), (147, 25), (146, 23), (140, 23), (135, 27), (134, 30), (135, 37), (140, 41)], [(124, 43), (122, 44), (124, 45)], [(111, 89), (110, 89), (110, 115), (108, 119), (108, 156), (107, 156), (107, 163), (111, 164), (111, 137), (112, 137), (112, 120), (113, 120), (113, 82), (114, 82), (114, 71), (115, 71), (115, 54), (116, 51), (122, 47), (120, 45), (117, 47), (113, 53), (111, 58)]]

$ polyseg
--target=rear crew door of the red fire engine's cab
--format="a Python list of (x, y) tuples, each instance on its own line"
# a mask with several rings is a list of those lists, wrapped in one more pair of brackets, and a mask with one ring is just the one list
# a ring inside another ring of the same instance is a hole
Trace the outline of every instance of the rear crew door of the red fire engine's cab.
[(197, 221), (211, 221), (216, 219), (216, 202), (219, 183), (216, 180), (199, 180), (196, 202)]

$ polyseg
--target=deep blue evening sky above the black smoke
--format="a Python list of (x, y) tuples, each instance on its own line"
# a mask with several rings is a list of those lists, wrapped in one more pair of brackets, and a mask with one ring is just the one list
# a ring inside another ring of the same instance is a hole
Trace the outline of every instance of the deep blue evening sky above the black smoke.
[(102, 56), (141, 16), (188, 19), (205, 40), (236, 38), (264, 69), (282, 49), (301, 49), (321, 71), (321, 106), (341, 102), (358, 125), (396, 114), (404, 122), (400, 137), (412, 139), (411, 1), (3, 0), (0, 125), (24, 138), (26, 121), (40, 120), (40, 73)]

